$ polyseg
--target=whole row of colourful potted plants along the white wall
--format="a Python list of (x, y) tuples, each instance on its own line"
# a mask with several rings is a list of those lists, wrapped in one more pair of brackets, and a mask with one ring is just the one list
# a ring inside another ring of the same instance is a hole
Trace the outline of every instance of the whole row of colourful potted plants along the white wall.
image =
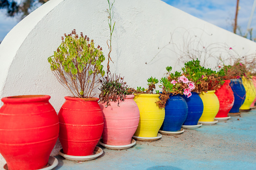
[[(157, 140), (161, 134), (182, 133), (182, 126), (198, 128), (198, 122), (213, 124), (229, 112), (249, 109), (255, 88), (239, 62), (216, 72), (192, 60), (185, 63), (183, 72), (172, 73), (172, 67), (166, 67), (166, 76), (160, 81), (149, 78), (147, 89), (129, 88), (124, 77), (110, 72), (115, 23), (112, 26), (113, 4), (108, 3), (111, 34), (106, 72), (102, 48), (73, 30), (64, 34), (48, 58), (53, 74), (72, 94), (65, 97), (58, 115), (47, 95), (2, 99), (0, 153), (8, 169), (46, 167), (58, 137), (59, 154), (70, 160), (90, 160), (103, 153), (98, 142), (111, 149), (129, 148), (136, 143), (132, 138)], [(157, 83), (160, 92), (155, 90)]]

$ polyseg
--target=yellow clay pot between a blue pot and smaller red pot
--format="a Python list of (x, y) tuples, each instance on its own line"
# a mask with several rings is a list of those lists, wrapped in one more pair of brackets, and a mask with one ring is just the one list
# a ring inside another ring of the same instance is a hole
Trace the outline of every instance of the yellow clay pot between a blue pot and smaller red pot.
[(217, 115), (220, 103), (218, 97), (214, 94), (215, 90), (202, 92), (199, 96), (204, 103), (204, 111), (199, 121), (214, 121), (214, 117)]

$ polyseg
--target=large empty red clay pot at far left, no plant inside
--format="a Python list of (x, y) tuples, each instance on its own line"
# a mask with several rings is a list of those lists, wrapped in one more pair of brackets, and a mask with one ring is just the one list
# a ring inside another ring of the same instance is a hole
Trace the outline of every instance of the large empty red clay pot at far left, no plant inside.
[(41, 169), (57, 141), (59, 121), (47, 95), (2, 99), (0, 153), (8, 169)]

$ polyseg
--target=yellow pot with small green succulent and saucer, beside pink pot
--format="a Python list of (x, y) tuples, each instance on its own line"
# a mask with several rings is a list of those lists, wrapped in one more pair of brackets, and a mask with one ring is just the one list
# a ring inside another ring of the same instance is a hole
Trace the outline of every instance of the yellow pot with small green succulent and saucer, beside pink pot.
[(147, 79), (148, 88), (137, 87), (134, 90), (134, 101), (139, 107), (140, 118), (139, 126), (134, 133), (133, 138), (138, 140), (157, 140), (161, 138), (158, 133), (164, 120), (164, 108), (159, 108), (157, 102), (159, 99), (159, 91), (155, 90), (155, 84), (159, 81), (150, 77)]

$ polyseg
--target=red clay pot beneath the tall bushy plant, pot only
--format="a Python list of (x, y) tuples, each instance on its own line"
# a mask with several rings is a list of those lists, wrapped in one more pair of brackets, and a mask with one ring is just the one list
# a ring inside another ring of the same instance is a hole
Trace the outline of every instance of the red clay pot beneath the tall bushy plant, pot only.
[(99, 98), (65, 99), (58, 114), (63, 152), (73, 156), (93, 155), (104, 126)]

